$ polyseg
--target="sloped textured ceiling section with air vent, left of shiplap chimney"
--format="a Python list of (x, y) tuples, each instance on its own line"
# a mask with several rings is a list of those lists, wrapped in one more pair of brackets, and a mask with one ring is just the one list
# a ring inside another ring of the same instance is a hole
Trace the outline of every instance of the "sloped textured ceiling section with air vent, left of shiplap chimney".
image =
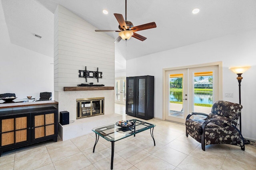
[(53, 57), (52, 12), (35, 0), (2, 0), (2, 7), (11, 43)]

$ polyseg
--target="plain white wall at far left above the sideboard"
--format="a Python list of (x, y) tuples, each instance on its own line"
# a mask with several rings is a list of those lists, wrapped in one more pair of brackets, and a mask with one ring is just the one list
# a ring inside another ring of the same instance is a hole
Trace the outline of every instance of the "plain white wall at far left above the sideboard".
[(0, 8), (0, 93), (15, 93), (20, 99), (53, 93), (53, 58), (10, 43)]

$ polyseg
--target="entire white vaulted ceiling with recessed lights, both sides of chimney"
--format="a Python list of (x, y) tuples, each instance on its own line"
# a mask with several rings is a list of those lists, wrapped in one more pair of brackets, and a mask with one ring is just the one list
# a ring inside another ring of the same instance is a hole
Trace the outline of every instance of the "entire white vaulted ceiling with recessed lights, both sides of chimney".
[[(125, 17), (125, 0), (2, 0), (11, 42), (53, 56), (57, 4), (98, 29), (118, 30), (113, 14)], [(200, 12), (192, 14), (194, 8)], [(126, 60), (256, 29), (256, 0), (127, 0), (127, 20), (134, 26), (155, 21), (157, 27), (136, 32), (147, 37), (145, 41), (132, 37), (116, 44), (116, 57)], [(118, 37), (116, 32), (107, 34)]]

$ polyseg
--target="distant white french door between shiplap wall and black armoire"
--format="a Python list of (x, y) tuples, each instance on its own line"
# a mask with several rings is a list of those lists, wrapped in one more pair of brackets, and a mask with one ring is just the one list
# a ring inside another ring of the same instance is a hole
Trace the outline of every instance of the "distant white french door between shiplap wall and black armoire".
[(115, 103), (126, 104), (126, 78), (115, 79)]

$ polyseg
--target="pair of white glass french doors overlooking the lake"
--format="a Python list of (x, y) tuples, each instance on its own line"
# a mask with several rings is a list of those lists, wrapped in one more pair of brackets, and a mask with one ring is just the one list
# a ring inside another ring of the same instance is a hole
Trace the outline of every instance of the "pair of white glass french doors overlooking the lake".
[(210, 113), (219, 100), (218, 76), (216, 65), (166, 71), (166, 120), (185, 123), (189, 113)]

